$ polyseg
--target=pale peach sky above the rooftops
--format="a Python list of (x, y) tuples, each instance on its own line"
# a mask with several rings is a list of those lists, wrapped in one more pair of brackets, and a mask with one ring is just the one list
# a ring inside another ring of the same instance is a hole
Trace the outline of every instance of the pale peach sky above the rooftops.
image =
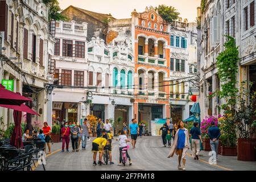
[(114, 18), (130, 18), (131, 12), (145, 10), (146, 6), (167, 5), (174, 6), (180, 13), (181, 18), (187, 18), (188, 22), (196, 20), (197, 10), (201, 0), (59, 0), (61, 9), (73, 5), (81, 9), (97, 13), (109, 14)]

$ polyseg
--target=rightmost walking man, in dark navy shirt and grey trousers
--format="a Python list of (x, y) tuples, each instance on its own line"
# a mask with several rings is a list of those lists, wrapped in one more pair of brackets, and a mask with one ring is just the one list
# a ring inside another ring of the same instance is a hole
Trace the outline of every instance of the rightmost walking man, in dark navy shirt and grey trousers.
[[(212, 151), (216, 152), (216, 159), (217, 159), (218, 138), (220, 138), (221, 133), (220, 133), (220, 129), (218, 129), (218, 127), (215, 126), (214, 121), (212, 121), (210, 124), (212, 125), (208, 130), (208, 135), (210, 137), (210, 148), (212, 149)], [(213, 161), (216, 162), (216, 159), (214, 159)]]

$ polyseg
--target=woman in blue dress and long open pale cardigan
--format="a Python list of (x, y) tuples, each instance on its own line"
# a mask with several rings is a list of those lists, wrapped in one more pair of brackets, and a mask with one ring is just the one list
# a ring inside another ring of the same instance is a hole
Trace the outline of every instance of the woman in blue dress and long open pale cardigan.
[[(184, 128), (184, 122), (179, 121), (177, 124), (177, 132), (175, 134), (174, 144), (172, 145), (172, 148), (171, 148), (170, 154), (168, 155), (168, 158), (173, 157), (174, 153), (176, 153), (176, 155), (179, 155), (178, 169), (182, 169), (183, 171), (185, 171), (186, 152), (188, 149), (189, 149), (188, 130)], [(180, 165), (181, 159), (183, 162), (182, 167)]]

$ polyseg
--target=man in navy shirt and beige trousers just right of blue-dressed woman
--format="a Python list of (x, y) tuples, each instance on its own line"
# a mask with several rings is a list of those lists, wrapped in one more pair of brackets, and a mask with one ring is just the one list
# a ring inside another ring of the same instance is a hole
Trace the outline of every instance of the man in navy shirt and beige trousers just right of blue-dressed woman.
[(201, 131), (199, 129), (199, 123), (194, 122), (194, 127), (190, 130), (191, 134), (191, 146), (192, 146), (192, 156), (196, 160), (199, 160), (198, 155), (200, 152), (200, 141), (203, 143), (202, 137), (201, 137)]

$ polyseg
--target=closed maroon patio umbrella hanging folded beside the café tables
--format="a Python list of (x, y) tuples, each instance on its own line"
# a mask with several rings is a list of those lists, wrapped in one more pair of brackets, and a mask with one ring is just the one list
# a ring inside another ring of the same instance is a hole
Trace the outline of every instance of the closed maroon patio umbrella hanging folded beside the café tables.
[(16, 148), (23, 147), (22, 142), (22, 128), (20, 126), (21, 119), (22, 119), (22, 111), (14, 110), (13, 112), (14, 117), (14, 130), (13, 134), (11, 134), (10, 144)]

